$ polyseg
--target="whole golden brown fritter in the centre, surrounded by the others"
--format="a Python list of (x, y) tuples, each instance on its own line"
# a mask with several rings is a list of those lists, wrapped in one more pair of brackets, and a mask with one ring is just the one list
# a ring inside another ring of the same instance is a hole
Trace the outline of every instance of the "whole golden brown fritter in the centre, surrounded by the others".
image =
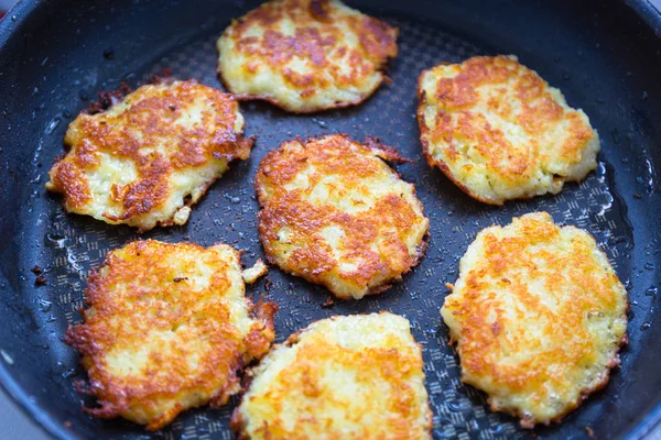
[(269, 262), (340, 298), (378, 294), (418, 264), (429, 220), (393, 150), (333, 134), (283, 143), (261, 162), (259, 233)]

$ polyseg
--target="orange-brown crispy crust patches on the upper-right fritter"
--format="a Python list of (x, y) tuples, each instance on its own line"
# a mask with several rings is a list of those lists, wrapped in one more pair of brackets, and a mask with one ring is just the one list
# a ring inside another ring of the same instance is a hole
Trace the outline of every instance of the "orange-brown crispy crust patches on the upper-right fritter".
[[(441, 65), (451, 65), (451, 63), (441, 63)], [(431, 167), (441, 169), (441, 172), (459, 187), (462, 191), (474, 199), (495, 206), (502, 206), (505, 202), (503, 200), (481, 197), (479, 194), (470, 190), (459, 178), (457, 178), (445, 161), (432, 155), (427, 139), (435, 139), (436, 142), (443, 140), (444, 142), (449, 143), (448, 150), (451, 151), (454, 148), (452, 146), (452, 139), (454, 136), (477, 139), (477, 144), (481, 145), (480, 150), (486, 156), (490, 157), (494, 168), (500, 169), (500, 173), (502, 173), (506, 178), (507, 176), (518, 176), (529, 173), (532, 165), (523, 157), (518, 157), (502, 133), (498, 129), (490, 128), (484, 129), (487, 130), (487, 132), (483, 133), (483, 129), (478, 127), (477, 121), (474, 121), (475, 118), (472, 113), (473, 106), (479, 100), (476, 89), (483, 86), (502, 85), (502, 82), (508, 80), (512, 75), (512, 73), (508, 70), (508, 67), (513, 68), (513, 72), (517, 74), (519, 74), (518, 70), (524, 70), (520, 82), (516, 87), (518, 99), (520, 99), (520, 103), (524, 106), (525, 109), (520, 116), (512, 117), (511, 108), (508, 102), (492, 99), (492, 101), (488, 103), (489, 111), (508, 114), (509, 118), (512, 118), (512, 123), (522, 127), (531, 135), (534, 135), (535, 133), (541, 135), (550, 124), (555, 123), (561, 119), (566, 119), (570, 125), (567, 130), (571, 135), (567, 136), (564, 144), (559, 146), (559, 150), (563, 152), (563, 156), (566, 160), (575, 160), (577, 155), (581, 154), (581, 150), (585, 142), (595, 135), (589, 124), (586, 125), (575, 111), (567, 112), (554, 101), (546, 90), (548, 84), (541, 77), (534, 72), (528, 70), (525, 67), (521, 66), (516, 59), (502, 55), (496, 57), (476, 56), (465, 61), (460, 66), (464, 70), (455, 78), (442, 78), (436, 84), (436, 97), (442, 102), (443, 110), (438, 110), (437, 112), (436, 120), (440, 122), (437, 123), (438, 127), (434, 130), (431, 130), (424, 120), (424, 109), (430, 102), (427, 101), (426, 92), (423, 89), (422, 80), (424, 74), (429, 70), (424, 70), (420, 75), (418, 79), (419, 107), (416, 116), (421, 131), (420, 139), (427, 164)], [(529, 106), (528, 103), (532, 102), (533, 99), (543, 101), (543, 105), (537, 107)], [(477, 110), (477, 112), (479, 112), (479, 110)], [(453, 124), (451, 122), (451, 113), (465, 114), (467, 120), (458, 124)], [(454, 154), (458, 156), (456, 151)], [(513, 163), (508, 168), (498, 165), (505, 156), (509, 160), (514, 158)], [(532, 161), (537, 160), (538, 157), (533, 157)], [(567, 183), (581, 180), (581, 178), (573, 178), (571, 176), (556, 177)], [(523, 194), (512, 199), (525, 200), (533, 197), (534, 194)]]

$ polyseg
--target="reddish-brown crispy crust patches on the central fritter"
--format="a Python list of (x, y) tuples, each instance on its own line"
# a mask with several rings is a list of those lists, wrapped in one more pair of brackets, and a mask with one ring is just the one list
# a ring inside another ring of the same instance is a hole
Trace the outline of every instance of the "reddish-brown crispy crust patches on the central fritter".
[[(357, 272), (351, 275), (342, 274), (343, 279), (368, 286), (373, 277), (386, 272), (389, 274), (388, 279), (371, 286), (367, 295), (386, 290), (390, 287), (389, 280), (401, 279), (401, 275), (418, 264), (426, 249), (426, 241), (423, 239), (416, 252), (410, 254), (403, 239), (394, 237), (387, 244), (388, 251), (380, 251), (381, 254), (387, 253), (389, 258), (368, 251), (368, 243), (384, 233), (381, 231), (403, 234), (416, 226), (421, 219), (409, 202), (399, 195), (388, 195), (378, 200), (371, 209), (350, 215), (330, 202), (323, 205), (308, 202), (305, 200), (304, 193), (310, 188), (303, 193), (288, 191), (284, 186), (308, 163), (314, 163), (317, 167), (318, 173), (313, 180), (318, 182), (324, 174), (350, 180), (370, 178), (375, 174), (384, 173), (387, 165), (381, 161), (375, 161), (375, 156), (392, 162), (405, 160), (394, 148), (380, 144), (373, 138), (368, 139), (365, 145), (355, 143), (346, 134), (292, 142), (300, 144), (302, 150), (292, 153), (288, 150), (289, 143), (284, 143), (262, 160), (256, 176), (254, 188), (262, 208), (258, 215), (258, 227), (267, 260), (285, 272), (302, 276), (311, 283), (322, 284), (336, 296), (346, 298), (347, 296), (333, 288), (328, 279), (328, 274), (337, 270), (338, 262), (319, 235), (323, 228), (338, 226), (346, 233), (346, 238), (343, 239), (344, 246), (351, 249), (354, 255), (361, 258)], [(387, 172), (394, 173), (399, 177), (399, 174), (390, 168)], [(267, 196), (267, 187), (271, 193), (270, 196)], [(415, 202), (422, 212), (422, 205), (418, 199)], [(422, 221), (427, 222), (429, 231), (429, 221), (424, 217)], [(283, 257), (278, 249), (277, 233), (283, 227), (294, 231), (294, 241), (297, 243), (289, 257)]]

